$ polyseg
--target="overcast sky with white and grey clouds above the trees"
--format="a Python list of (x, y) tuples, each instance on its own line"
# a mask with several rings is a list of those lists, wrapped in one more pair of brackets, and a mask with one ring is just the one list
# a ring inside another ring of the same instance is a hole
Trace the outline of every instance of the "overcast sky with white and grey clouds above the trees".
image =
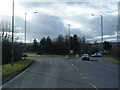
[[(87, 1), (20, 1), (15, 0), (15, 35), (18, 41), (24, 42), (25, 12), (27, 13), (27, 42), (36, 38), (59, 34), (68, 35), (70, 24), (71, 35), (85, 37), (87, 41), (101, 40), (100, 15), (103, 16), (104, 40), (115, 42), (118, 25), (117, 0)], [(34, 13), (37, 12), (37, 13)], [(91, 14), (94, 14), (92, 16)], [(0, 21), (11, 22), (12, 1), (0, 3)]]

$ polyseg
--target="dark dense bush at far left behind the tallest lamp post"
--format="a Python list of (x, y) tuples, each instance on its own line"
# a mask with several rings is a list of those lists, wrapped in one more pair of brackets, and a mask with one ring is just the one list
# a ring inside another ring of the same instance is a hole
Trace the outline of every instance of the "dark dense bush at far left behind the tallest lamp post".
[[(23, 45), (20, 43), (14, 43), (13, 56), (14, 61), (20, 60), (23, 53)], [(9, 40), (2, 41), (2, 64), (11, 62), (12, 57), (12, 43)]]

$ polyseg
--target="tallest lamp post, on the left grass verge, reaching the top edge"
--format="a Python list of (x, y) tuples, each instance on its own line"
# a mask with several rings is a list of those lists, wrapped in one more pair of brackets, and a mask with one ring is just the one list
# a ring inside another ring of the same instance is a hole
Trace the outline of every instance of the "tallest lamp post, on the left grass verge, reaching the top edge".
[(13, 66), (13, 61), (14, 61), (14, 57), (13, 57), (13, 41), (14, 41), (14, 0), (13, 0), (13, 7), (12, 7), (12, 62), (11, 65)]

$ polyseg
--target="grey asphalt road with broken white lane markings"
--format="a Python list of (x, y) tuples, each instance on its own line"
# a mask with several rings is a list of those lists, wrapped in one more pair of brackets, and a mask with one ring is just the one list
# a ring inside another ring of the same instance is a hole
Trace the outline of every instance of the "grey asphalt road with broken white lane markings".
[(118, 88), (118, 66), (100, 58), (31, 57), (34, 63), (3, 88)]

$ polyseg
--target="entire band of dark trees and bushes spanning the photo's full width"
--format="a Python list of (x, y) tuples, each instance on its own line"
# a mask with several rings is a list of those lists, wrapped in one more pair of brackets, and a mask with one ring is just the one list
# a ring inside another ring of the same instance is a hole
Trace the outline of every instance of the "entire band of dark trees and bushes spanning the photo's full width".
[[(0, 22), (0, 33), (2, 35), (2, 64), (10, 63), (12, 56), (12, 43), (11, 43), (11, 28), (10, 23), (7, 21)], [(14, 38), (14, 61), (21, 60), (24, 53), (24, 43), (16, 42), (19, 38)], [(85, 37), (79, 37), (77, 34), (73, 36), (59, 35), (55, 39), (51, 39), (50, 36), (43, 37), (40, 40), (34, 39), (32, 45), (27, 44), (26, 50), (28, 52), (36, 52), (37, 54), (63, 54), (66, 55), (69, 52), (69, 40), (70, 50), (73, 50), (73, 54), (89, 53), (93, 54), (100, 51), (101, 45), (97, 41), (89, 43)], [(110, 54), (120, 58), (120, 45), (112, 46), (108, 41), (103, 43), (104, 50), (109, 51)]]

